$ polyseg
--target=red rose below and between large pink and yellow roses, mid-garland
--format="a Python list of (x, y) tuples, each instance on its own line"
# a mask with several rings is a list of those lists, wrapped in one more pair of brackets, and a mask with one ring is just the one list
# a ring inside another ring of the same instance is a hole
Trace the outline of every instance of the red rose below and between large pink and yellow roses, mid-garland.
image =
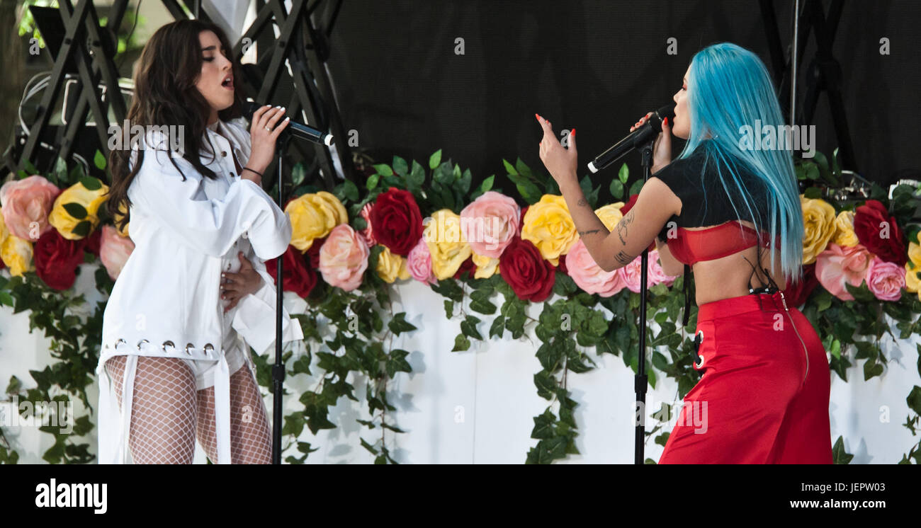
[(499, 257), (499, 274), (522, 301), (540, 303), (554, 290), (554, 265), (528, 240), (516, 235)]

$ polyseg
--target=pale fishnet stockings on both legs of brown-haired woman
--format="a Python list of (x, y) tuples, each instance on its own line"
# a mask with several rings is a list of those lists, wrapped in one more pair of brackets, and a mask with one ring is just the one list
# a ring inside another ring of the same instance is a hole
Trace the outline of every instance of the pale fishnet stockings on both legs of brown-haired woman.
[[(122, 406), (127, 356), (106, 362)], [(195, 391), (195, 375), (175, 358), (138, 356), (129, 445), (135, 464), (192, 464), (195, 433), (217, 463), (215, 388)], [(271, 464), (272, 433), (259, 387), (244, 364), (230, 376), (230, 462)]]

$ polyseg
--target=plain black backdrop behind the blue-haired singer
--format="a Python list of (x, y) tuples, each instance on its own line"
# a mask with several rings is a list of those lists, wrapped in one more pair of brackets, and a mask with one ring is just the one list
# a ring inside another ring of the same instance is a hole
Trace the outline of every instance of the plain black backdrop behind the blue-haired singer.
[[(828, 10), (828, 2), (823, 2)], [(781, 40), (791, 41), (792, 0), (776, 0)], [(917, 177), (921, 2), (846, 1), (834, 40), (857, 170), (888, 184)], [(666, 52), (667, 40), (678, 52)], [(880, 38), (892, 54), (880, 55)], [(464, 54), (455, 53), (463, 39)], [(541, 169), (539, 112), (578, 130), (579, 177), (591, 157), (619, 140), (648, 110), (672, 104), (694, 52), (730, 41), (759, 54), (772, 72), (764, 22), (754, 0), (422, 1), (345, 0), (332, 32), (330, 71), (345, 129), (359, 149), (426, 164), (438, 148), (474, 184), (496, 175), (513, 195), (502, 158)], [(814, 56), (810, 34), (798, 92)], [(775, 79), (775, 85), (778, 82)], [(837, 140), (827, 99), (812, 121), (816, 148)], [(674, 155), (683, 142), (677, 140)], [(639, 157), (625, 161), (639, 170)], [(615, 169), (596, 176), (607, 182)], [(607, 196), (602, 194), (602, 196)]]

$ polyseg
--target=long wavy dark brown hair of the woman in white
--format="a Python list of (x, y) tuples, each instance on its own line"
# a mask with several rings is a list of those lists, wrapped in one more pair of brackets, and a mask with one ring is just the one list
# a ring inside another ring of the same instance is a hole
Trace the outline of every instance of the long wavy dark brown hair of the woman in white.
[[(128, 110), (130, 126), (184, 126), (185, 142), (182, 157), (188, 160), (205, 178), (214, 179), (217, 175), (210, 168), (204, 166), (200, 159), (204, 130), (207, 127), (211, 106), (202, 96), (195, 82), (202, 72), (202, 52), (198, 35), (202, 31), (214, 31), (221, 45), (227, 52), (231, 52), (227, 35), (214, 24), (201, 20), (177, 20), (157, 29), (157, 32), (147, 40), (144, 51), (141, 52), (140, 63), (134, 72), (134, 98), (131, 109)], [(218, 119), (228, 121), (239, 117), (241, 99), (239, 97), (239, 63), (228, 57), (233, 63), (234, 103), (227, 109), (217, 113)], [(118, 123), (119, 126), (122, 123)], [(167, 148), (171, 150), (167, 142)], [(210, 143), (210, 141), (208, 142)], [(214, 145), (210, 145), (209, 152), (214, 155)], [(137, 160), (130, 166), (132, 155), (131, 145), (123, 145), (122, 149), (113, 149), (109, 154), (109, 167), (111, 171), (111, 187), (107, 196), (108, 210), (112, 217), (116, 212), (124, 212), (124, 217), (118, 227), (123, 229), (129, 222), (131, 201), (128, 200), (128, 188), (131, 187), (137, 171), (144, 162), (144, 148), (137, 149)], [(169, 161), (182, 174), (185, 174), (176, 164), (173, 155)], [(123, 207), (122, 207), (123, 205)], [(120, 211), (121, 210), (121, 211)]]

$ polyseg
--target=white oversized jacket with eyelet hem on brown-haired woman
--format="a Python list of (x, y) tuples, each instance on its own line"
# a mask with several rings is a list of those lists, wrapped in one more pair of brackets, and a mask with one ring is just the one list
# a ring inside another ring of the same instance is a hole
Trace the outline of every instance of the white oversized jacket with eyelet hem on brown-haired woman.
[[(216, 131), (206, 130), (217, 152), (214, 158), (205, 152), (200, 159), (216, 173), (214, 180), (177, 156), (173, 159), (182, 168), (183, 181), (169, 154), (154, 150), (166, 148), (168, 138), (158, 131), (146, 134), (144, 160), (128, 189), (134, 251), (115, 281), (103, 314), (97, 367), (100, 464), (126, 461), (138, 355), (217, 362), (218, 460), (229, 463), (229, 373), (222, 350), (228, 302), (220, 299), (220, 273), (239, 271), (238, 251), (252, 262), (263, 284), (231, 309), (232, 327), (257, 352), (274, 348), (274, 279), (264, 261), (282, 255), (291, 240), (286, 213), (259, 185), (240, 178), (234, 166), (230, 149), (240, 166), (250, 158), (250, 134), (244, 124), (242, 119), (217, 121)], [(206, 144), (203, 141), (203, 149), (208, 148)], [(132, 159), (136, 160), (136, 152)], [(283, 342), (304, 337), (297, 320), (286, 310), (282, 329)], [(123, 413), (104, 365), (121, 354), (128, 354), (122, 380)]]

